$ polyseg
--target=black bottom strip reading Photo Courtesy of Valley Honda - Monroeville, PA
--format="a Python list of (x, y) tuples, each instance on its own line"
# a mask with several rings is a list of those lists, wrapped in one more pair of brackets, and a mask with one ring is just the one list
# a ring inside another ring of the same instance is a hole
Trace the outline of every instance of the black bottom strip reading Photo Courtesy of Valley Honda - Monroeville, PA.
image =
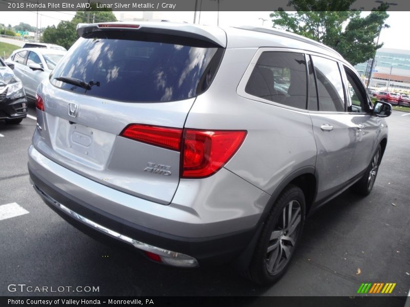
[(0, 306), (153, 306), (153, 307), (403, 307), (406, 297), (0, 297)]

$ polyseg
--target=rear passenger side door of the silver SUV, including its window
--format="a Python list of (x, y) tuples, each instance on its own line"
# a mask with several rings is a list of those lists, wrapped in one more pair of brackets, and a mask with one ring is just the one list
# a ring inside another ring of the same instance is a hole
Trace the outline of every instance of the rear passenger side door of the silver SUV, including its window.
[(321, 201), (338, 192), (353, 177), (350, 164), (356, 146), (356, 124), (345, 112), (338, 62), (315, 55), (310, 60), (310, 80), (316, 83), (316, 88), (311, 86), (309, 110), (318, 152), (317, 200)]

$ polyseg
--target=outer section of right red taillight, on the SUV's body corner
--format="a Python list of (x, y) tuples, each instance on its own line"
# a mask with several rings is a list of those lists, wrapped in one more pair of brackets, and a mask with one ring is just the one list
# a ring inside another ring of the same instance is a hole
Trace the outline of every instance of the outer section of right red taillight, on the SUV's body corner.
[(185, 129), (182, 178), (203, 178), (217, 172), (242, 144), (246, 131)]

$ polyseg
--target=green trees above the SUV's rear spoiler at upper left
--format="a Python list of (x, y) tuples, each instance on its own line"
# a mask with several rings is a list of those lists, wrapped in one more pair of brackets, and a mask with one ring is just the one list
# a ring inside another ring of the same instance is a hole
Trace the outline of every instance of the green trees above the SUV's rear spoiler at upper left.
[(101, 11), (101, 9), (97, 9), (96, 6), (96, 3), (91, 3), (90, 10), (76, 12), (71, 21), (61, 21), (57, 28), (55, 26), (47, 27), (43, 32), (42, 41), (55, 43), (69, 49), (78, 38), (76, 31), (77, 24), (87, 23), (88, 18), (90, 23), (92, 23), (93, 19), (95, 23), (117, 21), (111, 9)]

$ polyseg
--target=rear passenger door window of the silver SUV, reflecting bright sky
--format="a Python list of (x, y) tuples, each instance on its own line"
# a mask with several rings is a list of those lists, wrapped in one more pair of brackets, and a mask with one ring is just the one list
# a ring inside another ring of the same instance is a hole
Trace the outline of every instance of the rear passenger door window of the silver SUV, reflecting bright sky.
[(319, 93), (319, 111), (344, 112), (343, 83), (337, 62), (312, 56)]

